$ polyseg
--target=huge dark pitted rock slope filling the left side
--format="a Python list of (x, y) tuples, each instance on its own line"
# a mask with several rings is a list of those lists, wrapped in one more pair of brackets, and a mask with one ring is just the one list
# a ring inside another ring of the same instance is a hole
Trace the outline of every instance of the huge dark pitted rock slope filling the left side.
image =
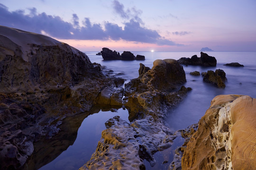
[(0, 30), (0, 169), (24, 165), (34, 142), (90, 110), (102, 90), (111, 92), (109, 107), (120, 105), (124, 80), (103, 74), (83, 52), (44, 35)]

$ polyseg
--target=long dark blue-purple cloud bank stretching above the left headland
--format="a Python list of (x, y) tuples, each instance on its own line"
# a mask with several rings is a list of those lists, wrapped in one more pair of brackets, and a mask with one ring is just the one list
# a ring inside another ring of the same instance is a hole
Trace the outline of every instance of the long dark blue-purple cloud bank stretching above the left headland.
[[(122, 5), (120, 7), (122, 8)], [(73, 14), (71, 22), (66, 22), (58, 16), (47, 15), (45, 12), (37, 13), (36, 8), (30, 8), (29, 10), (30, 13), (28, 15), (25, 14), (24, 10), (10, 12), (6, 6), (0, 4), (0, 25), (15, 27), (38, 34), (45, 33), (59, 39), (112, 39), (160, 45), (181, 45), (167, 40), (161, 37), (157, 31), (143, 26), (138, 19), (139, 17), (136, 18), (140, 11), (135, 8), (131, 9), (135, 17), (124, 22), (123, 27), (110, 22), (105, 22), (102, 26), (101, 24), (93, 24), (88, 17), (85, 17), (82, 20), (82, 25), (80, 25), (79, 17), (76, 14)], [(120, 10), (120, 14), (122, 11), (123, 8)]]

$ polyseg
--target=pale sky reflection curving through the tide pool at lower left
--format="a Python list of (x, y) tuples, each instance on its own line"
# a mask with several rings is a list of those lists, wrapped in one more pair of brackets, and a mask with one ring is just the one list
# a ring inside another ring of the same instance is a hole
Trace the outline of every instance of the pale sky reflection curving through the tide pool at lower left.
[(101, 132), (106, 129), (105, 122), (114, 116), (120, 116), (121, 119), (129, 122), (128, 110), (123, 109), (117, 112), (100, 111), (89, 115), (79, 127), (73, 145), (39, 170), (78, 170), (90, 160), (101, 139)]

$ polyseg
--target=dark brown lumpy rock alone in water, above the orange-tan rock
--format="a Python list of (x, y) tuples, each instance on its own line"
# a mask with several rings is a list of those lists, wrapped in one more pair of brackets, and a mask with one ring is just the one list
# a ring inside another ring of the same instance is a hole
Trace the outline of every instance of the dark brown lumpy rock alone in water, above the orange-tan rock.
[(217, 87), (226, 87), (226, 80), (226, 73), (222, 69), (216, 69), (215, 72), (208, 70), (206, 75), (203, 77), (203, 81), (216, 85)]

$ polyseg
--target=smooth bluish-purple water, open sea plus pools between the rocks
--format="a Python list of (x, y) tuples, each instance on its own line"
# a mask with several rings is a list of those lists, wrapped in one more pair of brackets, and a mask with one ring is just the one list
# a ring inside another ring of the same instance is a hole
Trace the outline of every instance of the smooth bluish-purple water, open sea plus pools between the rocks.
[[(130, 79), (138, 77), (139, 63), (152, 68), (156, 59), (180, 59), (182, 57), (191, 58), (193, 55), (201, 56), (200, 51), (193, 52), (150, 52), (150, 51), (131, 51), (135, 56), (144, 55), (145, 60), (103, 60), (101, 55), (96, 55), (99, 51), (84, 51), (91, 62), (96, 62), (105, 66), (106, 70), (112, 76), (118, 76), (125, 79), (125, 83)], [(119, 51), (120, 54), (122, 51)], [(185, 66), (187, 82), (185, 87), (191, 87), (187, 96), (177, 107), (167, 111), (165, 117), (166, 126), (174, 131), (184, 129), (197, 123), (209, 108), (211, 100), (220, 94), (243, 94), (256, 98), (256, 51), (207, 51), (205, 52), (217, 59), (216, 67)], [(238, 62), (244, 67), (229, 67), (224, 64)], [(226, 73), (227, 81), (225, 88), (218, 88), (209, 83), (203, 82), (202, 76), (192, 76), (190, 72), (207, 72), (222, 69)], [(78, 170), (83, 164), (90, 160), (94, 153), (98, 141), (101, 139), (101, 131), (106, 129), (105, 122), (114, 116), (120, 116), (121, 119), (128, 120), (128, 111), (119, 110), (100, 110), (98, 113), (87, 116), (81, 126), (78, 128), (77, 136), (72, 145), (68, 146), (64, 152), (56, 156), (48, 164), (42, 166), (39, 170)], [(147, 161), (144, 161), (146, 170), (167, 170), (172, 162), (175, 148), (183, 142), (183, 139), (174, 140), (173, 146), (168, 152), (155, 153), (155, 159), (158, 162), (155, 167), (151, 167)], [(167, 158), (167, 160), (166, 160)], [(168, 161), (163, 164), (163, 162)]]

